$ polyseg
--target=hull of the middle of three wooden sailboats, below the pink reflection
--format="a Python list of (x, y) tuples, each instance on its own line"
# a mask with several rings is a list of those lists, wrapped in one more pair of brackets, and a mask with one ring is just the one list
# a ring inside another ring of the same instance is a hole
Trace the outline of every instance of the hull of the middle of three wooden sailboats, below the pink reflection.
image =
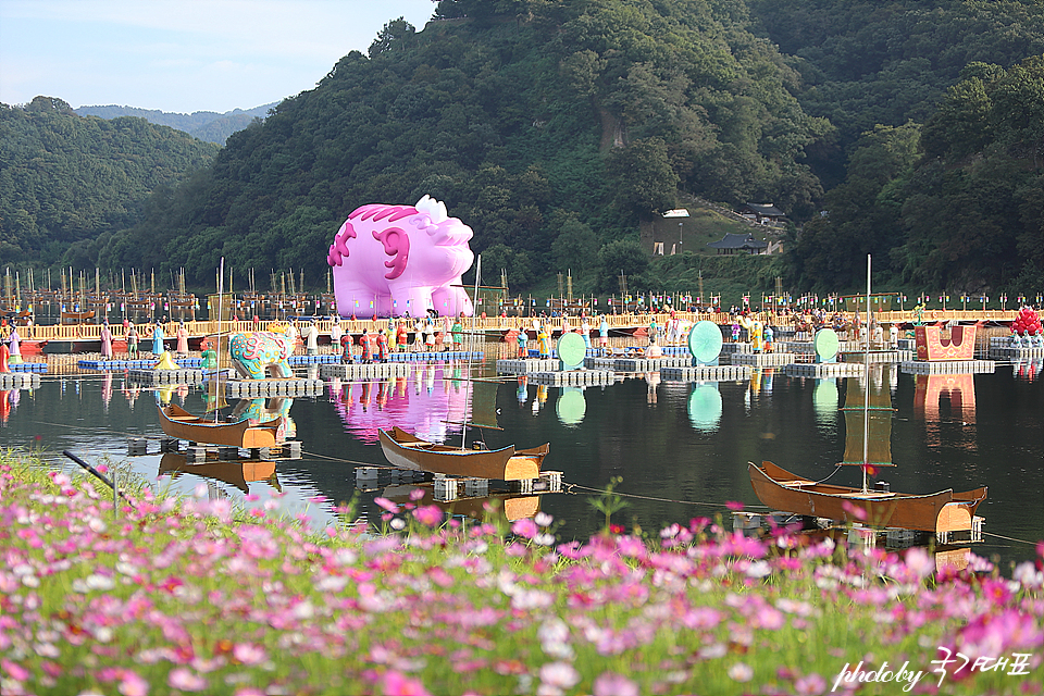
[(464, 449), (438, 445), (410, 435), (400, 427), (378, 431), (381, 448), (394, 467), (450, 476), (517, 481), (538, 478), (548, 444), (532, 449)]

